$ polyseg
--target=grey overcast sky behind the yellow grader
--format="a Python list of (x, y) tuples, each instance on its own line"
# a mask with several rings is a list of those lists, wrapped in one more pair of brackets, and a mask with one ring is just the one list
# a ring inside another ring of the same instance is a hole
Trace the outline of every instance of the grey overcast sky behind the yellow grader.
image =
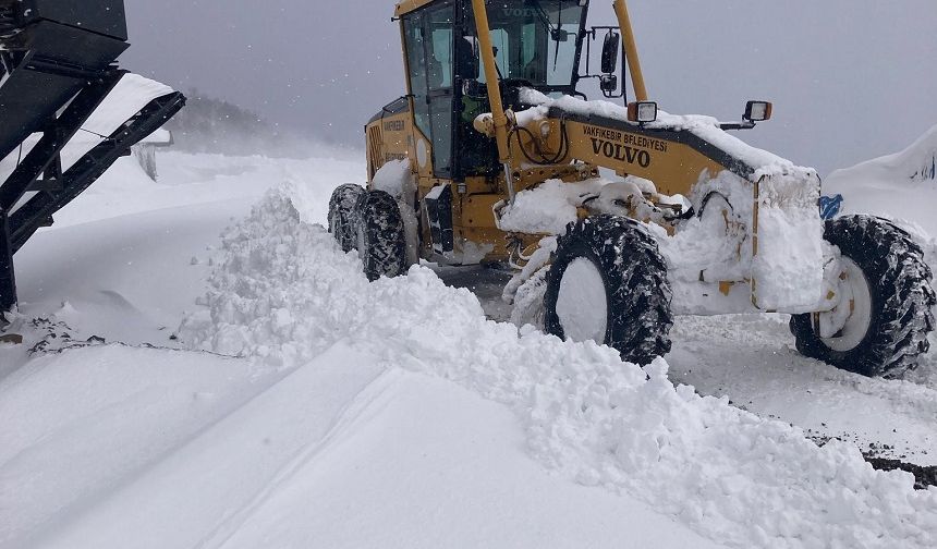
[[(613, 22), (611, 0), (592, 24)], [(631, 0), (652, 98), (738, 119), (750, 143), (822, 174), (904, 148), (937, 124), (937, 0)], [(393, 0), (126, 0), (125, 68), (363, 147), (404, 93)], [(588, 90), (587, 90), (588, 91)], [(592, 94), (591, 94), (592, 96)]]

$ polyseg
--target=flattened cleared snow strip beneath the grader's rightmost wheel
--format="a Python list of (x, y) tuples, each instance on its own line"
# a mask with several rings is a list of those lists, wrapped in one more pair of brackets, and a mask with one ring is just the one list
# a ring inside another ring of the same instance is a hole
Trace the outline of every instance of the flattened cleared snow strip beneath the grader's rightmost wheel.
[(817, 438), (841, 438), (885, 457), (937, 464), (937, 391), (843, 371), (793, 349), (780, 316), (681, 317), (667, 357), (670, 376), (728, 396), (758, 415)]

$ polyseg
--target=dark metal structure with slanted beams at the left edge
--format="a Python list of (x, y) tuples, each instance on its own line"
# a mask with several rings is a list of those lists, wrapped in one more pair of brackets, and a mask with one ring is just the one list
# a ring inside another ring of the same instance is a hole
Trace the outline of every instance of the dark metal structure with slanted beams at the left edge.
[(0, 180), (0, 312), (16, 304), (16, 251), (185, 105), (180, 93), (154, 99), (63, 171), (65, 145), (126, 74), (115, 64), (126, 40), (123, 0), (0, 0), (0, 160), (16, 156)]

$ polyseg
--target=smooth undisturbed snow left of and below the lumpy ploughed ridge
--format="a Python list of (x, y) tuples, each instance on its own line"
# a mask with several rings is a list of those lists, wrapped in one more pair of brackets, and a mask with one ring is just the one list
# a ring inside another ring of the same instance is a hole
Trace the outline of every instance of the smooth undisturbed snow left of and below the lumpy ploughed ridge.
[[(551, 475), (504, 406), (348, 345), (296, 368), (166, 349), (227, 255), (226, 224), (300, 176), (300, 218), (321, 222), (364, 168), (158, 158), (161, 184), (121, 159), (17, 255), (26, 342), (0, 345), (0, 547), (717, 547)], [(82, 347), (89, 335), (133, 346)], [(29, 353), (44, 342), (63, 351)]]

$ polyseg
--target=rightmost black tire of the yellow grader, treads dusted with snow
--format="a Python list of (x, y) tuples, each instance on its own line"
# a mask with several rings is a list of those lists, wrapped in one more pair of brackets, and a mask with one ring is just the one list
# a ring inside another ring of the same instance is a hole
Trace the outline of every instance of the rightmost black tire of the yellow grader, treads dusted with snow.
[(826, 222), (825, 239), (839, 246), (854, 296), (850, 316), (835, 337), (822, 339), (812, 314), (791, 317), (798, 351), (869, 377), (900, 377), (930, 344), (930, 268), (905, 231), (880, 218), (843, 216)]

